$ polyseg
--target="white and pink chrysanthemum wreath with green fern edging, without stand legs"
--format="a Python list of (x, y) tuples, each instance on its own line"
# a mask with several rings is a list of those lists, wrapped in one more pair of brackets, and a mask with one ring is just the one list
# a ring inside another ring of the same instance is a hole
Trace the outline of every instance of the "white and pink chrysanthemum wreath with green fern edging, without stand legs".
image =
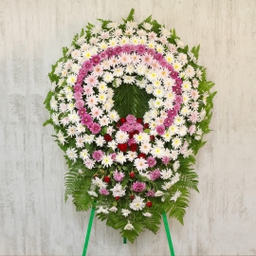
[(183, 223), (192, 165), (210, 132), (213, 82), (174, 29), (151, 16), (137, 24), (100, 20), (75, 35), (49, 73), (46, 109), (64, 150), (65, 200), (94, 208), (133, 242), (159, 229), (161, 214)]

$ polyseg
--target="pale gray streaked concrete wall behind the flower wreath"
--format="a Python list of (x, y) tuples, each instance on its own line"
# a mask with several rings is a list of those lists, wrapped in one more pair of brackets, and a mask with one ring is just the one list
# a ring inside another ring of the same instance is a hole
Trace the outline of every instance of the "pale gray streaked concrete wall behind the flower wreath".
[[(216, 83), (210, 135), (197, 155), (200, 193), (185, 226), (170, 220), (176, 255), (256, 255), (256, 0), (0, 0), (0, 255), (81, 255), (89, 212), (64, 204), (62, 151), (43, 127), (47, 73), (97, 18), (153, 14)], [(164, 227), (132, 245), (96, 220), (87, 255), (170, 255)]]

